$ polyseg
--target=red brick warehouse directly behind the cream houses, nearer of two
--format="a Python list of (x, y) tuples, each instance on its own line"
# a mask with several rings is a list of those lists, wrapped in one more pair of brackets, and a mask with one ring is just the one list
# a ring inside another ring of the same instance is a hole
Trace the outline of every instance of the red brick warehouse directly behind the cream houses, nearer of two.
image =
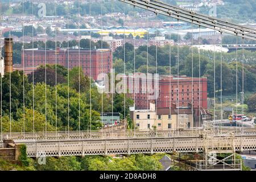
[[(179, 84), (178, 84), (179, 80)], [(154, 88), (154, 81), (152, 82)], [(147, 93), (142, 93), (142, 80), (139, 81), (139, 93), (135, 93), (136, 109), (147, 109)], [(134, 100), (134, 94), (129, 94)], [(160, 76), (159, 78), (159, 96), (156, 101), (157, 107), (170, 107), (171, 103), (177, 106), (187, 106), (192, 103), (193, 107), (203, 107), (207, 109), (207, 78), (196, 78), (179, 76)], [(177, 100), (179, 98), (179, 100)]]

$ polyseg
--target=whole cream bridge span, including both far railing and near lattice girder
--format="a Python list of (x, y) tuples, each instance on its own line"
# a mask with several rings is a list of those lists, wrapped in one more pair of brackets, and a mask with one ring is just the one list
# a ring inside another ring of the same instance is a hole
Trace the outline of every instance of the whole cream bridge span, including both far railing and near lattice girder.
[(2, 138), (26, 144), (30, 157), (256, 150), (254, 128), (6, 133)]

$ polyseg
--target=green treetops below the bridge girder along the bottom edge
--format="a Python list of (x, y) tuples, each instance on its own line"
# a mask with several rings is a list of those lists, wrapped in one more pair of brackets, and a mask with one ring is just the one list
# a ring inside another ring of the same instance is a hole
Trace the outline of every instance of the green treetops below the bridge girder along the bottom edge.
[[(63, 156), (59, 159), (48, 157), (44, 164), (39, 164), (37, 160), (23, 157), (21, 165), (10, 163), (0, 159), (1, 170), (26, 170), (26, 171), (158, 171), (162, 169), (159, 160), (164, 154), (152, 156), (137, 154), (129, 157), (119, 156)], [(172, 166), (174, 170), (178, 167)]]

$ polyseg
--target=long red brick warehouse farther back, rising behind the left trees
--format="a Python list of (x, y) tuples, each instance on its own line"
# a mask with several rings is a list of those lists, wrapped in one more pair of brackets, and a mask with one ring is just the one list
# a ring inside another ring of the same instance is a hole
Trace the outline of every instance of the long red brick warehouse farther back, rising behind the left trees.
[[(22, 50), (22, 65), (24, 67), (33, 66), (33, 52), (34, 52), (34, 67), (44, 65), (45, 60), (47, 64), (55, 64), (55, 61), (59, 65), (64, 67), (73, 68), (79, 67), (79, 49), (64, 49), (57, 48), (56, 56), (55, 49), (24, 49), (24, 60)], [(91, 56), (90, 56), (91, 55)], [(90, 58), (91, 57), (91, 58)], [(68, 65), (69, 61), (69, 65)], [(91, 62), (91, 67), (90, 67)], [(84, 71), (84, 74), (91, 75), (94, 80), (100, 73), (110, 73), (112, 68), (112, 51), (111, 49), (80, 49), (80, 66)]]

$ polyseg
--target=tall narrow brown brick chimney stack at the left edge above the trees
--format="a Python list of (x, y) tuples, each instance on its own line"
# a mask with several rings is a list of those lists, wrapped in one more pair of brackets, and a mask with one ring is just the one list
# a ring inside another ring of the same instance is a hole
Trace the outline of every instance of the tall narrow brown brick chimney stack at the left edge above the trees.
[(5, 38), (5, 73), (13, 72), (13, 38)]

